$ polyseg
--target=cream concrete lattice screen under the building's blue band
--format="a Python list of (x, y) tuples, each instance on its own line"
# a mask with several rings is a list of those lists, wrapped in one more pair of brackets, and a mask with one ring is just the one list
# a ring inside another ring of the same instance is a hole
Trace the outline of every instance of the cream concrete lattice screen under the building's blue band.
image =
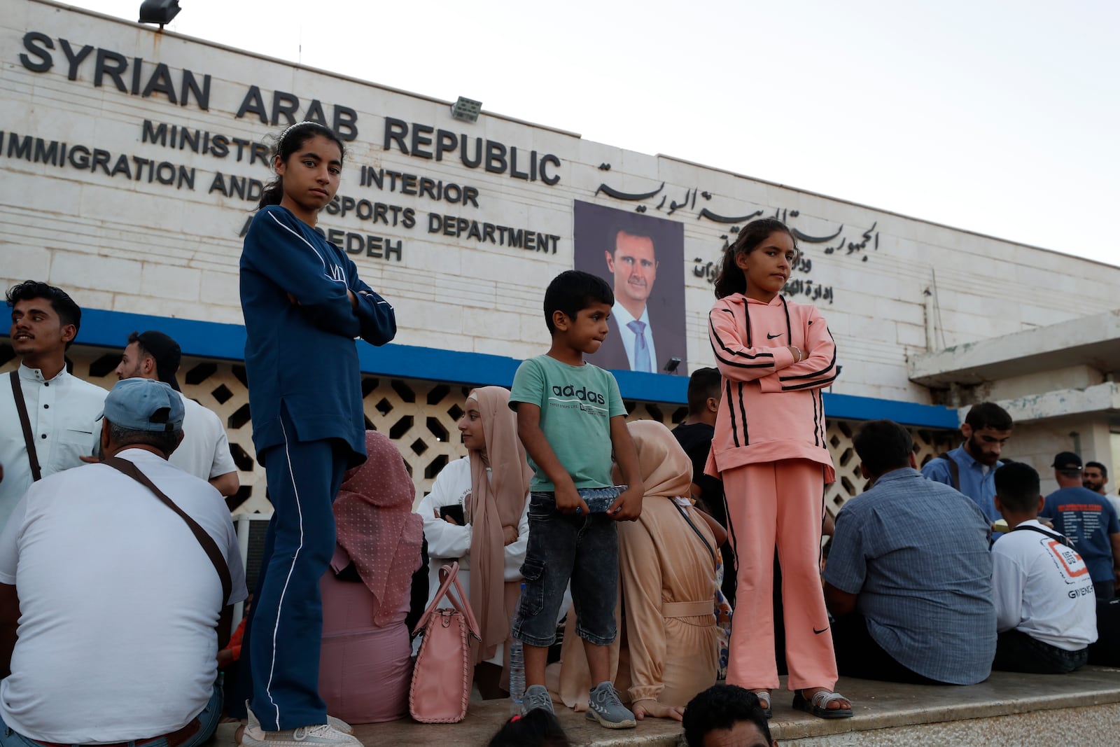
[[(121, 352), (106, 348), (71, 348), (73, 373), (81, 379), (111, 389), (116, 382), (113, 370)], [(0, 345), (0, 373), (17, 365), (9, 345)], [(249, 413), (249, 390), (244, 366), (228, 361), (184, 357), (179, 367), (183, 392), (209, 408), (225, 423), (230, 448), (237, 464), (241, 491), (226, 503), (233, 513), (270, 512), (264, 492), (264, 469), (256, 463), (252, 423)], [(419, 499), (449, 461), (466, 451), (459, 440), (456, 423), (469, 386), (431, 381), (365, 376), (362, 381), (366, 427), (373, 428), (396, 443), (417, 486)], [(683, 407), (626, 402), (629, 420), (653, 419), (672, 428), (685, 415)], [(834, 514), (846, 501), (859, 495), (867, 486), (859, 474), (859, 459), (851, 438), (859, 422), (828, 420), (828, 441), (837, 469), (837, 482), (829, 486), (825, 504)], [(912, 428), (918, 465), (951, 448), (955, 431)]]

